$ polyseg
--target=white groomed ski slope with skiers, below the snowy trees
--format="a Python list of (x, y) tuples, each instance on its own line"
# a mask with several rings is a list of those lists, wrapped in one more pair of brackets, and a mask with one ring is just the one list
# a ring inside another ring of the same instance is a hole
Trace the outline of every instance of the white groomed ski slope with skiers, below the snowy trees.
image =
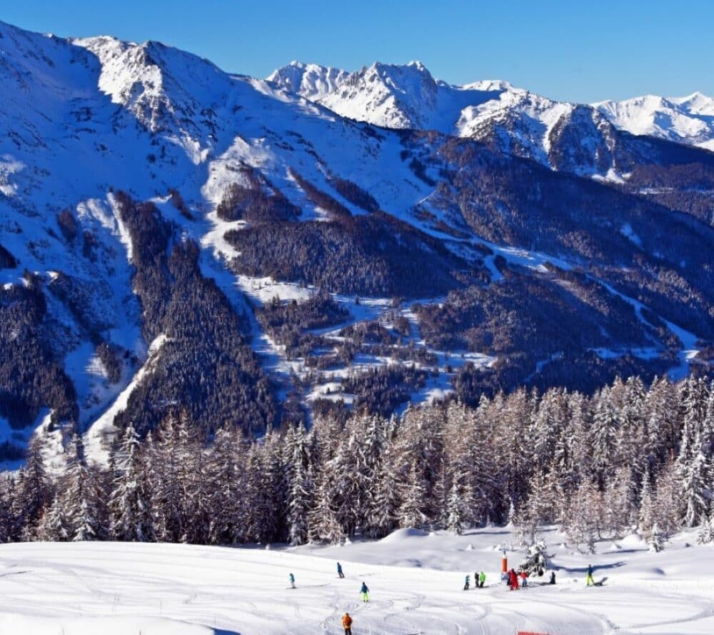
[[(594, 556), (545, 533), (558, 584), (499, 580), (508, 529), (396, 531), (381, 541), (296, 549), (176, 544), (0, 546), (0, 635), (550, 635), (714, 633), (714, 548), (681, 534), (659, 554), (638, 536)], [(509, 566), (523, 554), (508, 552)], [(337, 577), (336, 561), (346, 578)], [(585, 587), (585, 567), (602, 587)], [(463, 591), (486, 571), (486, 589)], [(296, 577), (290, 589), (288, 574)], [(371, 601), (359, 589), (366, 581)], [(541, 586), (543, 585), (543, 586)]]

